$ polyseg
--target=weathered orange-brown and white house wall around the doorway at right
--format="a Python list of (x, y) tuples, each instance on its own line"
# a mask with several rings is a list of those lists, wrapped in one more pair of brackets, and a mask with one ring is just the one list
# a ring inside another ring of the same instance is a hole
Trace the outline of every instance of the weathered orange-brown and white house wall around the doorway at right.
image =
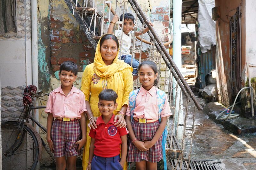
[[(252, 17), (252, 13), (255, 13), (256, 4), (253, 0), (241, 1), (241, 0), (232, 0), (232, 1), (221, 1), (215, 0), (215, 6), (220, 6), (220, 20), (216, 22), (220, 28), (220, 41), (222, 45), (222, 55), (224, 63), (225, 77), (227, 79), (228, 94), (229, 100), (231, 100), (230, 92), (230, 46), (229, 46), (229, 20), (236, 12), (236, 8), (241, 5), (241, 75), (242, 75), (242, 87), (249, 86), (248, 81), (251, 81), (253, 87), (253, 103), (254, 110), (256, 109), (255, 101), (255, 77), (256, 77), (256, 68), (250, 67), (250, 77), (251, 80), (248, 80), (246, 63), (256, 64), (255, 55), (256, 55), (256, 26), (255, 17)], [(242, 113), (240, 115), (244, 117), (251, 117), (251, 103), (250, 103), (250, 93), (249, 90), (244, 90), (241, 92), (240, 96)]]

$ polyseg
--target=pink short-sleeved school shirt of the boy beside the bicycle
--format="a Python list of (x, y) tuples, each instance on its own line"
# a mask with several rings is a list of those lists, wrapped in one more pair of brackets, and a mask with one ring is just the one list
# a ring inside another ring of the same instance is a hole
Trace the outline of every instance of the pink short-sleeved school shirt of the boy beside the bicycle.
[(81, 114), (87, 111), (84, 93), (73, 86), (66, 97), (60, 86), (50, 93), (44, 111), (52, 113), (54, 118), (81, 118)]

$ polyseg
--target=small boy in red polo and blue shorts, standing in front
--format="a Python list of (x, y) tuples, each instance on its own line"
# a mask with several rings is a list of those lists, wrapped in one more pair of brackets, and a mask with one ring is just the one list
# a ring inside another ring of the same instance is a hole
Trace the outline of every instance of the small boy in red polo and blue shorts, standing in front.
[[(112, 89), (106, 89), (99, 94), (98, 107), (102, 114), (97, 119), (97, 128), (91, 129), (89, 163), (87, 170), (123, 170), (127, 153), (126, 128), (115, 126), (113, 111), (117, 107), (117, 94)], [(122, 154), (120, 159), (120, 145)]]

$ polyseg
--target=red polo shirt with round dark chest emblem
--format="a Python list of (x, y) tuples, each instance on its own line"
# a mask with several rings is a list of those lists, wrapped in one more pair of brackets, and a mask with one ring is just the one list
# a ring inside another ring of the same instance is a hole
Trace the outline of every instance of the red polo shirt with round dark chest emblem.
[(91, 129), (89, 136), (95, 139), (94, 155), (110, 158), (120, 154), (121, 136), (127, 135), (129, 132), (125, 128), (116, 127), (114, 124), (113, 114), (107, 124), (102, 120), (102, 115), (97, 119), (97, 128)]

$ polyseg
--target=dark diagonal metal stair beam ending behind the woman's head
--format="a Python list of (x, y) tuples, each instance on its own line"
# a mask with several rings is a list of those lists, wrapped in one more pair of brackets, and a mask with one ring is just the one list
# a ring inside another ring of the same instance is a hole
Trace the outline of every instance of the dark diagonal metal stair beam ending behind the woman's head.
[(88, 41), (92, 44), (93, 49), (96, 50), (97, 42), (93, 38), (92, 33), (90, 33), (90, 31), (88, 29), (89, 26), (84, 22), (83, 18), (76, 11), (75, 4), (72, 2), (72, 0), (64, 0), (64, 1), (67, 4), (67, 6), (68, 6), (69, 10), (71, 11), (71, 13), (76, 18), (76, 21), (78, 22), (80, 28), (82, 28), (82, 30), (84, 31), (84, 34), (86, 35)]

